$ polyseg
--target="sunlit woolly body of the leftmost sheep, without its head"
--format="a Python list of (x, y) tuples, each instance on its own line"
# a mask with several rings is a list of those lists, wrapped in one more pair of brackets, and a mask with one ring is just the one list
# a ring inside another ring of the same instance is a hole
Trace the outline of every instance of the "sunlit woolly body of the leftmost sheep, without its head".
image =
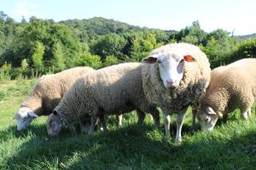
[(62, 96), (67, 92), (78, 77), (94, 71), (90, 67), (75, 67), (56, 74), (40, 77), (21, 106), (26, 106), (40, 115), (49, 115)]

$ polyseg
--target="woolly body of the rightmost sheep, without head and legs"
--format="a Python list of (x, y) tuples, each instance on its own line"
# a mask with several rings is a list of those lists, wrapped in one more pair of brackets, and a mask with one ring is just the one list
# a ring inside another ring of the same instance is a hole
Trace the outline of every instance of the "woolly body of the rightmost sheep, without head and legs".
[(241, 59), (212, 70), (201, 105), (210, 105), (213, 111), (223, 114), (251, 104), (256, 96), (255, 66), (256, 59)]

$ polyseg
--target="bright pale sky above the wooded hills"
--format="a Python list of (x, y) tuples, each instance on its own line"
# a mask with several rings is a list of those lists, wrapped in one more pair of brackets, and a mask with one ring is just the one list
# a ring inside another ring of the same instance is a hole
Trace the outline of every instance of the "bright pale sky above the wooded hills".
[(33, 15), (55, 21), (104, 17), (134, 26), (179, 31), (199, 20), (210, 32), (256, 33), (255, 0), (0, 0), (0, 11), (20, 21)]

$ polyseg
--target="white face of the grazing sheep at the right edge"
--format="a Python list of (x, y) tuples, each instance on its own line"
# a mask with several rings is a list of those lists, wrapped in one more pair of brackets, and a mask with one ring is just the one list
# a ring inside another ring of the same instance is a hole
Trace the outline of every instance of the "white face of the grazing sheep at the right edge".
[(201, 108), (197, 118), (200, 121), (202, 130), (212, 131), (218, 121), (218, 114), (212, 110), (212, 107), (206, 106)]

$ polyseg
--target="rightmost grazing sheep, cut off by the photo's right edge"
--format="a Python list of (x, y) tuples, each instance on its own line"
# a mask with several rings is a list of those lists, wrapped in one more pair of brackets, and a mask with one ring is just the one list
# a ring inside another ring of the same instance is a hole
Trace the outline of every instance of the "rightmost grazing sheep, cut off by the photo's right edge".
[(251, 115), (251, 107), (256, 99), (256, 59), (240, 59), (220, 66), (211, 73), (207, 94), (201, 100), (198, 119), (201, 129), (211, 131), (218, 117), (239, 108), (241, 117)]

